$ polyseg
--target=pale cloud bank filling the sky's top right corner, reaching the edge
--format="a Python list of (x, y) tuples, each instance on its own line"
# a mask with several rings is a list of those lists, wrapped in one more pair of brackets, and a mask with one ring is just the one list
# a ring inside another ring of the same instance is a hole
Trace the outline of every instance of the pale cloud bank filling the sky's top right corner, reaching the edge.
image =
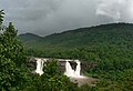
[(100, 0), (96, 14), (112, 18), (114, 21), (131, 22), (133, 18), (133, 0)]

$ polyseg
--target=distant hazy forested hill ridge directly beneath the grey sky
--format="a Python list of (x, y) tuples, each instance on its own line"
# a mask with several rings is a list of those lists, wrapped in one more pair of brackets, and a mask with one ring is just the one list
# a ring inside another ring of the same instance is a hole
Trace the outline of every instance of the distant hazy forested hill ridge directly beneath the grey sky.
[(133, 24), (111, 23), (80, 28), (47, 37), (31, 33), (20, 36), (25, 46), (34, 49), (94, 47), (96, 44), (133, 46)]

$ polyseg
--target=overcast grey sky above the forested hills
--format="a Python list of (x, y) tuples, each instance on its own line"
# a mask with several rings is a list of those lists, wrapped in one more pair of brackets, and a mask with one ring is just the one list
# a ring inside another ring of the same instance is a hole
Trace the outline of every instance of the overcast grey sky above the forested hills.
[(112, 22), (133, 22), (133, 0), (0, 0), (4, 23), (47, 36)]

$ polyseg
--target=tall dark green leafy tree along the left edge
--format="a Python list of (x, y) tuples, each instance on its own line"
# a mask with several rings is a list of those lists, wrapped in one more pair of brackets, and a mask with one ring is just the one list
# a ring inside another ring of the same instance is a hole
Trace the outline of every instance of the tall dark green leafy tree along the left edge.
[[(0, 11), (0, 27), (3, 11)], [(24, 51), (17, 37), (17, 30), (10, 22), (0, 34), (0, 91), (19, 90), (27, 81)]]

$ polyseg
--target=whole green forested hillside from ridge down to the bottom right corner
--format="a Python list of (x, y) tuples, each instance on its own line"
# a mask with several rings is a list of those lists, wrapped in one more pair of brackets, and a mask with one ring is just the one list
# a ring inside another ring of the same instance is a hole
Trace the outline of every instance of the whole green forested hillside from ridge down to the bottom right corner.
[[(133, 24), (112, 23), (47, 37), (20, 37), (29, 55), (80, 59), (84, 73), (100, 79), (90, 91), (133, 91)], [(83, 89), (88, 91), (89, 87)]]

